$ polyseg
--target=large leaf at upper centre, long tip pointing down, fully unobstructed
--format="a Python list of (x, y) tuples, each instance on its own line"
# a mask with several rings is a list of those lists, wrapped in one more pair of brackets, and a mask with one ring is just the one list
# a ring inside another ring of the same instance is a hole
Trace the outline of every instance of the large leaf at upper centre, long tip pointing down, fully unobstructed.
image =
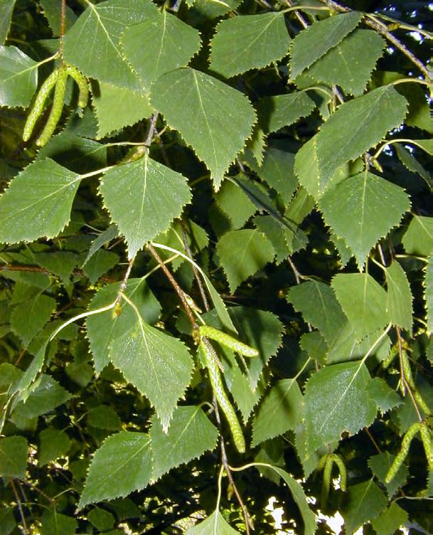
[(218, 190), (230, 163), (252, 134), (255, 111), (247, 97), (188, 67), (159, 77), (151, 87), (151, 104), (193, 147)]

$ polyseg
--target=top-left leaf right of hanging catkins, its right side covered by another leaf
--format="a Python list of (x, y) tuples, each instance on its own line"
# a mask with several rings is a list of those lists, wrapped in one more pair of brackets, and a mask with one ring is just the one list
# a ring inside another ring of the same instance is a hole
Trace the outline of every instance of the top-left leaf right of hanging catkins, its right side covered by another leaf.
[[(124, 59), (120, 38), (127, 26), (158, 13), (150, 0), (103, 1), (87, 9), (63, 39), (66, 63), (100, 82), (141, 90), (141, 82)], [(86, 53), (83, 54), (82, 51)]]

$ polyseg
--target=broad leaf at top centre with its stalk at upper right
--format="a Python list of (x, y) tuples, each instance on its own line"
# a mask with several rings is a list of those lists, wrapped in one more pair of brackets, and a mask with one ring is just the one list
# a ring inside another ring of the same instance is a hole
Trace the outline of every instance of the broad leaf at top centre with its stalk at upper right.
[(221, 21), (210, 47), (210, 68), (230, 78), (281, 60), (289, 51), (290, 36), (284, 13), (261, 13)]

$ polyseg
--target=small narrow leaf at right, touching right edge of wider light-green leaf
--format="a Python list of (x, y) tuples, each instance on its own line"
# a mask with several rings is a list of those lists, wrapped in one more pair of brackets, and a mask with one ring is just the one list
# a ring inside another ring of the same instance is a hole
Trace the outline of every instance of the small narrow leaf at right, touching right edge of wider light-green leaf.
[(396, 261), (385, 269), (387, 314), (392, 325), (412, 331), (412, 292), (405, 270)]

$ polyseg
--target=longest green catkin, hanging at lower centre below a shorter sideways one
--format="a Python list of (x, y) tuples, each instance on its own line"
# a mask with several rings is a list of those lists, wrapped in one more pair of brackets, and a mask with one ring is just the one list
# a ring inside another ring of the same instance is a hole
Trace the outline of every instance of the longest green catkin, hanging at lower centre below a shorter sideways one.
[(201, 350), (205, 357), (205, 364), (209, 371), (210, 384), (212, 384), (215, 398), (218, 401), (218, 405), (225, 414), (230, 431), (232, 432), (233, 441), (239, 453), (245, 453), (245, 439), (242, 433), (239, 420), (237, 419), (235, 409), (233, 409), (227, 394), (225, 393), (223, 379), (221, 379), (220, 369), (213, 356), (213, 347), (210, 342), (200, 342)]

